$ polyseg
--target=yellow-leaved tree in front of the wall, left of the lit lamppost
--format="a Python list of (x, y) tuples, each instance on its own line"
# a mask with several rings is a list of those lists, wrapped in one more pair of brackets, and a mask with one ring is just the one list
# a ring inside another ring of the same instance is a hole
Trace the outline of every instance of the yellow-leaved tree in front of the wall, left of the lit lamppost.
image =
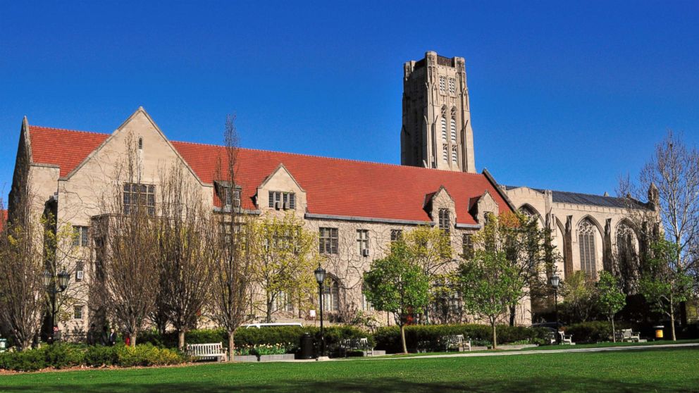
[(251, 225), (253, 280), (263, 292), (266, 321), (270, 323), (280, 296), (306, 299), (302, 294), (316, 288), (313, 270), (318, 265), (317, 235), (306, 230), (294, 213), (262, 217)]

